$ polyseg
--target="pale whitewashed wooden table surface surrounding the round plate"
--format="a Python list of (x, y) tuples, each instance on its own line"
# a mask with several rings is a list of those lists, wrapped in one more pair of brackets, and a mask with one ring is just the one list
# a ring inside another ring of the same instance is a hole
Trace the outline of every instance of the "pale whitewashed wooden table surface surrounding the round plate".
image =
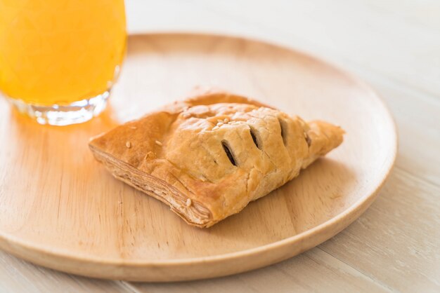
[(127, 18), (131, 33), (249, 36), (351, 71), (382, 95), (396, 119), (396, 167), (354, 224), (280, 264), (148, 284), (68, 275), (0, 252), (0, 292), (440, 291), (440, 1), (127, 0)]

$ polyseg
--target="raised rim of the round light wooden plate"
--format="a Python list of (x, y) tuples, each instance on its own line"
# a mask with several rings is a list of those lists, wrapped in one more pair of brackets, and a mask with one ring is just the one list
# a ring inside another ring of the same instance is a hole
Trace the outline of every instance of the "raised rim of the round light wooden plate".
[[(170, 266), (181, 266), (181, 265), (202, 265), (202, 264), (214, 264), (218, 261), (224, 262), (224, 261), (231, 261), (233, 259), (240, 259), (245, 257), (258, 257), (259, 255), (267, 252), (271, 252), (273, 250), (280, 250), (280, 248), (288, 247), (289, 245), (292, 245), (296, 242), (298, 242), (301, 239), (313, 236), (315, 234), (323, 233), (327, 231), (328, 229), (331, 230), (333, 226), (336, 226), (337, 224), (344, 222), (344, 220), (347, 220), (351, 215), (355, 215), (353, 219), (348, 219), (344, 225), (342, 226), (342, 229), (338, 229), (335, 233), (331, 233), (330, 236), (326, 236), (323, 241), (318, 241), (319, 243), (323, 243), (325, 240), (328, 240), (335, 236), (337, 233), (342, 231), (343, 229), (347, 228), (349, 224), (354, 222), (365, 210), (373, 203), (375, 198), (377, 197), (377, 193), (382, 189), (382, 186), (389, 178), (389, 175), (391, 174), (395, 162), (396, 162), (396, 156), (397, 156), (397, 150), (398, 150), (398, 132), (396, 128), (396, 122), (394, 121), (394, 118), (391, 114), (391, 111), (389, 111), (389, 107), (382, 99), (381, 95), (379, 95), (368, 83), (363, 81), (362, 79), (358, 78), (356, 75), (351, 74), (349, 71), (346, 71), (345, 69), (341, 69), (339, 66), (333, 64), (332, 62), (328, 62), (327, 60), (324, 60), (321, 57), (318, 57), (316, 55), (313, 55), (308, 52), (304, 52), (303, 50), (298, 50), (297, 48), (292, 48), (290, 46), (285, 46), (284, 44), (278, 43), (276, 41), (268, 41), (264, 39), (259, 39), (256, 37), (250, 37), (250, 36), (241, 36), (241, 35), (235, 35), (235, 34), (220, 34), (220, 33), (208, 33), (208, 32), (186, 32), (186, 31), (160, 31), (160, 32), (139, 32), (135, 34), (129, 34), (127, 36), (127, 42), (128, 39), (133, 38), (139, 38), (139, 37), (145, 37), (145, 36), (166, 36), (166, 37), (172, 37), (172, 36), (179, 36), (179, 37), (216, 37), (216, 38), (224, 38), (224, 39), (235, 39), (237, 41), (247, 41), (247, 42), (253, 42), (253, 43), (261, 43), (266, 46), (273, 46), (278, 49), (282, 50), (288, 50), (292, 53), (295, 53), (296, 55), (302, 55), (304, 57), (310, 58), (311, 60), (315, 60), (319, 62), (320, 64), (325, 65), (325, 67), (335, 69), (339, 74), (343, 74), (347, 78), (349, 78), (351, 81), (356, 83), (358, 86), (361, 86), (363, 89), (368, 90), (369, 93), (371, 93), (371, 99), (375, 99), (377, 102), (380, 103), (380, 106), (384, 110), (384, 114), (386, 114), (387, 120), (389, 122), (389, 126), (391, 126), (392, 132), (389, 133), (389, 135), (392, 135), (393, 137), (389, 139), (389, 142), (392, 142), (392, 147), (388, 150), (389, 154), (391, 156), (387, 157), (387, 161), (384, 162), (384, 166), (382, 168), (382, 173), (380, 176), (382, 179), (377, 184), (374, 184), (374, 187), (372, 191), (365, 192), (365, 195), (356, 200), (352, 205), (350, 205), (347, 210), (344, 210), (343, 212), (337, 214), (335, 217), (332, 217), (331, 219), (328, 219), (327, 221), (319, 224), (318, 226), (314, 226), (311, 229), (308, 229), (306, 231), (303, 231), (299, 234), (296, 234), (295, 236), (290, 236), (287, 238), (284, 238), (282, 240), (275, 241), (273, 243), (268, 243), (266, 245), (260, 245), (258, 247), (252, 247), (250, 249), (246, 250), (238, 250), (235, 252), (228, 252), (224, 254), (215, 254), (211, 256), (205, 256), (205, 257), (190, 257), (190, 258), (182, 258), (182, 259), (117, 259), (117, 258), (103, 258), (103, 257), (96, 257), (93, 255), (88, 254), (78, 254), (75, 252), (75, 254), (69, 252), (69, 250), (65, 250), (63, 248), (48, 248), (44, 245), (35, 245), (29, 243), (27, 240), (21, 240), (17, 236), (9, 235), (8, 233), (4, 233), (0, 231), (0, 248), (1, 250), (4, 250), (6, 252), (9, 252), (11, 254), (14, 254), (22, 259), (26, 259), (27, 261), (31, 261), (35, 264), (41, 264), (42, 266), (46, 266), (49, 268), (55, 268), (60, 271), (65, 271), (68, 273), (75, 273), (82, 275), (80, 270), (78, 271), (71, 271), (71, 270), (63, 270), (60, 269), (59, 266), (49, 266), (48, 264), (44, 264), (42, 261), (38, 261), (35, 258), (32, 257), (23, 257), (23, 254), (20, 254), (20, 251), (26, 250), (28, 252), (31, 252), (30, 255), (33, 253), (38, 254), (46, 254), (46, 256), (54, 257), (55, 259), (59, 260), (66, 260), (70, 259), (71, 261), (78, 261), (79, 263), (87, 263), (87, 264), (97, 264), (98, 266), (117, 266), (117, 267), (170, 267)], [(356, 215), (356, 212), (360, 212), (360, 214)], [(318, 245), (319, 245), (318, 243)], [(305, 250), (309, 250), (316, 245), (312, 245), (311, 247), (306, 248)], [(304, 251), (304, 250), (302, 250)], [(266, 262), (266, 266), (268, 264), (273, 264), (278, 261), (282, 261), (284, 259), (290, 258), (295, 256), (297, 253), (290, 254), (287, 257), (284, 257), (283, 259), (273, 260)], [(242, 271), (249, 271), (250, 269), (255, 269), (262, 267), (260, 266), (254, 266), (253, 268), (247, 268), (240, 270)], [(221, 276), (226, 274), (217, 274), (216, 276)], [(87, 274), (86, 276), (91, 276), (90, 274)], [(103, 275), (95, 275), (94, 277), (98, 278), (111, 278), (106, 277)], [(210, 277), (206, 277), (210, 278)], [(122, 278), (124, 279), (124, 278)], [(148, 279), (148, 278), (147, 278)], [(176, 278), (176, 280), (195, 280), (195, 279), (201, 279), (201, 278)], [(124, 279), (129, 280), (129, 279)], [(138, 279), (131, 279), (131, 280), (138, 280)], [(146, 280), (146, 279), (145, 279)]]

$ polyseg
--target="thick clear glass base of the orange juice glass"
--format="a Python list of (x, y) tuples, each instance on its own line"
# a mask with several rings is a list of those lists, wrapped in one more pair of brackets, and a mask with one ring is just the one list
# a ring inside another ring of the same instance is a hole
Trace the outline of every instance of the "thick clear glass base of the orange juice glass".
[(54, 104), (52, 106), (29, 104), (12, 98), (8, 98), (8, 100), (18, 111), (34, 118), (40, 124), (63, 126), (83, 123), (94, 116), (98, 116), (105, 109), (109, 96), (110, 90), (96, 97), (73, 102), (72, 104)]

